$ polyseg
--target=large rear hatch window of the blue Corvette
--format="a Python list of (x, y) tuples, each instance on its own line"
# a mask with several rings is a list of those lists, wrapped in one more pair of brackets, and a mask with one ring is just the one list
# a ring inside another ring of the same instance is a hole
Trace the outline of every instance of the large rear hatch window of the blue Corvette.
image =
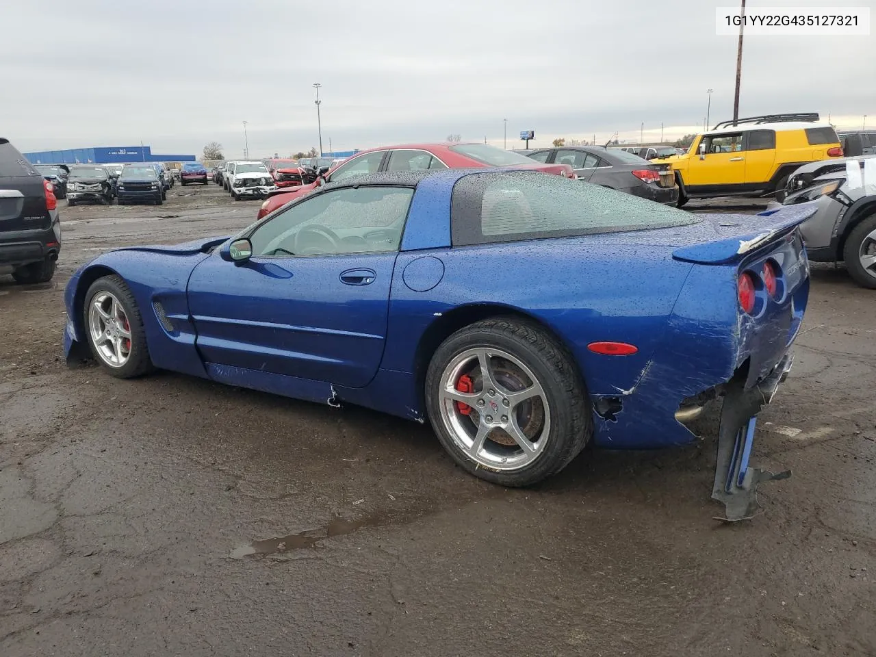
[(453, 188), (454, 246), (685, 226), (701, 219), (606, 187), (535, 172), (476, 173)]

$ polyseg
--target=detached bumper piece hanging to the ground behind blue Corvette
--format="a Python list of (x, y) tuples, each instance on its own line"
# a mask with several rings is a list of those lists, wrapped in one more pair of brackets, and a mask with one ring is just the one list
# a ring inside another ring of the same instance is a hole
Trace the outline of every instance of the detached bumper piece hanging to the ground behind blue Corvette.
[(768, 404), (782, 381), (788, 376), (793, 358), (786, 356), (770, 375), (749, 390), (741, 381), (732, 381), (724, 397), (721, 425), (717, 438), (717, 463), (712, 499), (724, 504), (724, 516), (718, 519), (736, 521), (752, 518), (760, 508), (758, 484), (774, 479), (787, 479), (790, 470), (779, 473), (749, 466), (757, 425), (755, 415)]

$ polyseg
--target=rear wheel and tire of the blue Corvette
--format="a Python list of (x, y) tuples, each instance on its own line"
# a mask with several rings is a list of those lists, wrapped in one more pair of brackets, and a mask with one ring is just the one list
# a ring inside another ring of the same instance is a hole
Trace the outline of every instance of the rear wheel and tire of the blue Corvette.
[(527, 486), (554, 475), (593, 433), (576, 364), (529, 321), (498, 317), (456, 331), (435, 350), (425, 392), (444, 449), (494, 484)]

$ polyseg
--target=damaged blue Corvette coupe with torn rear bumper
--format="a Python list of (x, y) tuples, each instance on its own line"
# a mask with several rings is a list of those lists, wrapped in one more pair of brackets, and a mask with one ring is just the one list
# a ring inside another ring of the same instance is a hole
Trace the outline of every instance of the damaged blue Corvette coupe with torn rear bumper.
[(749, 517), (755, 416), (809, 295), (797, 225), (691, 215), (561, 176), (380, 173), (236, 237), (104, 253), (67, 285), (67, 359), (162, 368), (429, 420), (464, 469), (523, 486), (590, 442), (696, 440), (723, 399), (712, 497)]

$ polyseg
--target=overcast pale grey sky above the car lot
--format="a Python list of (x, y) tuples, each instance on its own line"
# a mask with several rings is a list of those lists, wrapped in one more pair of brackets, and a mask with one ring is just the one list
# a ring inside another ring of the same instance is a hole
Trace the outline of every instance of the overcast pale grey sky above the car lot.
[[(407, 141), (659, 139), (732, 115), (731, 0), (0, 0), (0, 134), (22, 151), (152, 145), (241, 157)], [(862, 4), (768, 0), (751, 5)], [(876, 13), (876, 12), (874, 12)], [(740, 114), (876, 127), (868, 37), (745, 40)]]

